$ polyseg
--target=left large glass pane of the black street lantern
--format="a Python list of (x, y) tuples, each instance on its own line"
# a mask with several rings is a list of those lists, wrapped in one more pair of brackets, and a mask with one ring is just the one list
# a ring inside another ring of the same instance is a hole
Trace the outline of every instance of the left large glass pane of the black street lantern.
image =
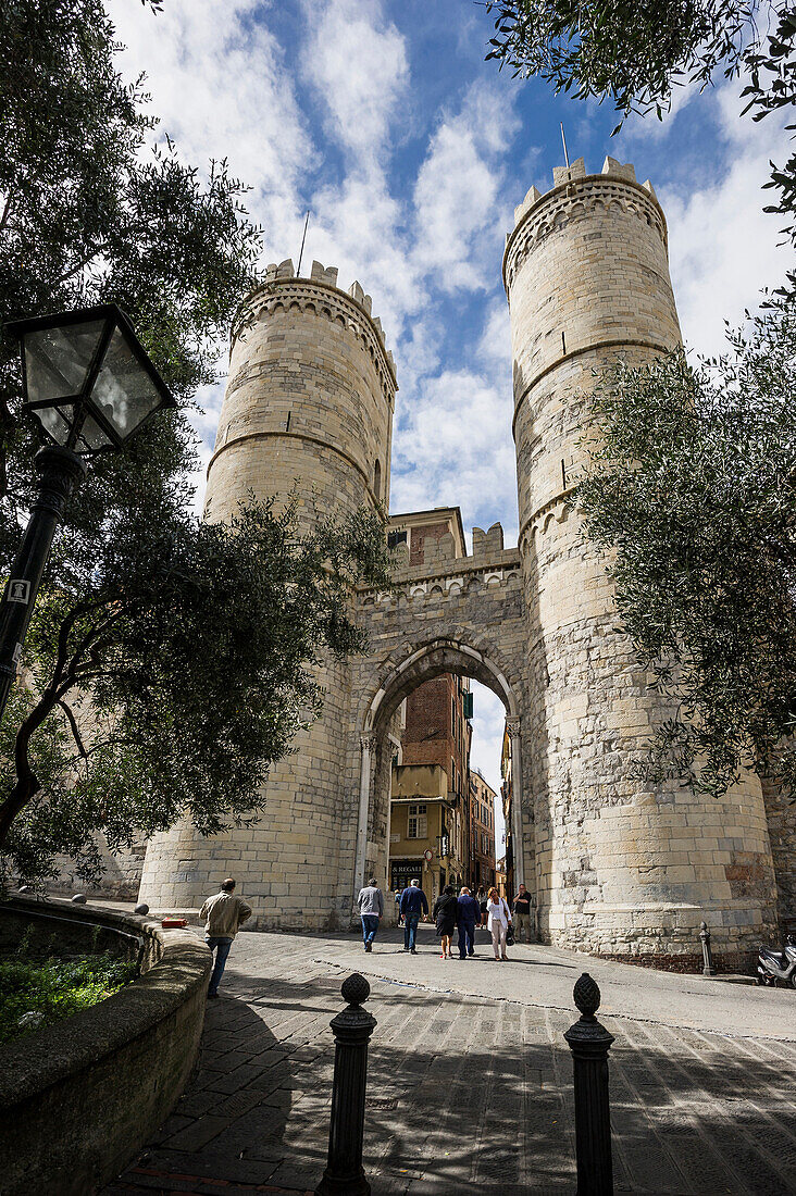
[(93, 319), (86, 324), (26, 332), (28, 402), (41, 403), (79, 395), (104, 327), (104, 321)]

